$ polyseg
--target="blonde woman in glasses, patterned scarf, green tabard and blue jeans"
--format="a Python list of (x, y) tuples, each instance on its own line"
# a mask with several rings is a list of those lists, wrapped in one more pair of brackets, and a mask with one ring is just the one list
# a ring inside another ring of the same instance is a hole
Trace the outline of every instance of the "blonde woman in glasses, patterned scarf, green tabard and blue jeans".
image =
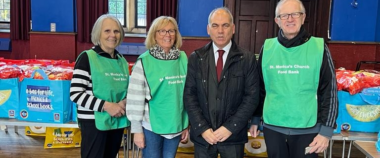
[(188, 59), (174, 18), (160, 16), (149, 29), (146, 48), (133, 67), (126, 113), (143, 158), (175, 158), (189, 134), (183, 92)]

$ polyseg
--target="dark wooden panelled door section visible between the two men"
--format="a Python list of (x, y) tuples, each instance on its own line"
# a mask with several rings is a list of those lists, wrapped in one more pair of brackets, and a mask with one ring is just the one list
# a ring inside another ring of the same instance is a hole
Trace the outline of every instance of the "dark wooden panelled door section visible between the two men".
[(258, 54), (266, 38), (273, 37), (275, 0), (236, 0), (235, 35), (239, 46)]

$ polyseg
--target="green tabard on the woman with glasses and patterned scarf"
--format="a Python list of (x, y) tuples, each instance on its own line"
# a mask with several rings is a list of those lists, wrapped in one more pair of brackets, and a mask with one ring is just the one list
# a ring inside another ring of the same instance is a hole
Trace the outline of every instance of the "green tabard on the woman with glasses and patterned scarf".
[(189, 126), (183, 95), (188, 59), (181, 51), (176, 60), (161, 60), (150, 55), (149, 50), (138, 60), (142, 61), (151, 99), (149, 118), (152, 131), (157, 134), (174, 134)]

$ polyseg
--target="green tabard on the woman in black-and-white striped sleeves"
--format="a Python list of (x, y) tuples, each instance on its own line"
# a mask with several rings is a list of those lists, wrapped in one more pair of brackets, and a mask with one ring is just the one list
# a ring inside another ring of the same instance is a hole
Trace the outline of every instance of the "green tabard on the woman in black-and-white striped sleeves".
[[(108, 102), (123, 100), (129, 84), (128, 63), (124, 57), (118, 55), (115, 60), (102, 57), (93, 50), (85, 52), (89, 56), (94, 95)], [(105, 111), (95, 111), (95, 125), (99, 130), (109, 130), (130, 126), (130, 122), (125, 115), (111, 117)]]

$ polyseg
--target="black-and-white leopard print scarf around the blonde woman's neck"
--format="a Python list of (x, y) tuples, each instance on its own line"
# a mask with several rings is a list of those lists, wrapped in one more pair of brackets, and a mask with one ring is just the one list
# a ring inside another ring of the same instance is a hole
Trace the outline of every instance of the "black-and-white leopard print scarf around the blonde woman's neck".
[(158, 46), (158, 44), (155, 44), (153, 47), (149, 49), (149, 53), (157, 58), (157, 59), (163, 59), (163, 60), (171, 60), (171, 59), (178, 59), (180, 56), (180, 50), (178, 48), (175, 48), (174, 46), (170, 49), (169, 54), (166, 54), (165, 51)]

